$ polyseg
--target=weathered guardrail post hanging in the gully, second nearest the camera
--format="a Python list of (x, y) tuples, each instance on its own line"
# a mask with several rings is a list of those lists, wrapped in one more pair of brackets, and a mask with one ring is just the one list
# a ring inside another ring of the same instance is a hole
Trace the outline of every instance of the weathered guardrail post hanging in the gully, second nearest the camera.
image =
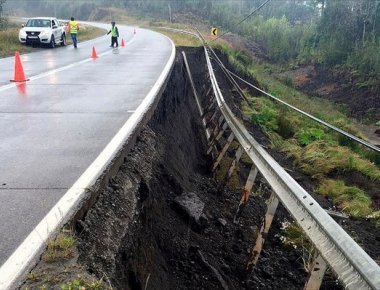
[(278, 207), (279, 200), (275, 193), (272, 193), (268, 200), (267, 212), (265, 214), (264, 221), (261, 225), (260, 232), (256, 238), (255, 246), (252, 249), (251, 257), (247, 264), (247, 270), (250, 273), (252, 269), (256, 266), (259, 260), (261, 250), (263, 249), (265, 239), (268, 235), (269, 229), (272, 225), (274, 215)]

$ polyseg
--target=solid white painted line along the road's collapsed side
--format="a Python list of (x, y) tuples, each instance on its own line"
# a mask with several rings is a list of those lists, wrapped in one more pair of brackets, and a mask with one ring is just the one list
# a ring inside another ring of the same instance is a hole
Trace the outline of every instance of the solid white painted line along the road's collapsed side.
[(87, 196), (87, 189), (93, 185), (103, 171), (106, 170), (107, 165), (116, 157), (119, 150), (122, 149), (123, 144), (128, 141), (136, 129), (136, 126), (142, 121), (144, 114), (153, 105), (158, 92), (170, 74), (176, 55), (173, 41), (168, 37), (166, 38), (170, 41), (172, 52), (154, 86), (95, 161), (1, 266), (1, 290), (18, 286), (17, 283), (20, 282), (20, 279), (24, 278), (23, 275), (26, 271), (30, 270), (30, 266), (33, 265), (33, 262), (36, 262), (36, 259), (45, 248), (46, 242), (72, 218), (73, 214), (78, 210), (82, 201)]

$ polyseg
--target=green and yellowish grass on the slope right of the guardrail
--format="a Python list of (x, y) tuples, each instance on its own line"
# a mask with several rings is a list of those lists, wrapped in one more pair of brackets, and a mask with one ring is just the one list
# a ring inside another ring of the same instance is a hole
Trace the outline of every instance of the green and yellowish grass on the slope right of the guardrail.
[[(242, 51), (233, 50), (230, 46), (220, 43), (214, 46), (227, 56), (228, 61), (237, 71), (258, 80), (266, 91), (363, 138), (355, 127), (355, 121), (348, 118), (344, 110), (331, 101), (311, 98), (297, 91), (290, 84), (282, 83), (271, 75), (273, 66), (253, 63), (253, 60), (244, 56)], [(318, 191), (321, 194), (332, 197), (335, 193), (333, 202), (352, 216), (372, 215), (374, 219), (378, 218), (377, 212), (371, 207), (370, 197), (363, 190), (346, 186), (343, 181), (330, 180), (326, 183), (331, 174), (337, 172), (344, 174), (350, 171), (359, 172), (371, 181), (380, 182), (378, 154), (361, 148), (267, 97), (251, 96), (247, 92), (246, 96), (249, 103), (244, 101), (241, 103), (244, 114), (267, 134), (272, 148), (284, 152), (294, 161), (297, 168), (318, 182)], [(326, 184), (329, 185), (329, 194), (325, 192)]]

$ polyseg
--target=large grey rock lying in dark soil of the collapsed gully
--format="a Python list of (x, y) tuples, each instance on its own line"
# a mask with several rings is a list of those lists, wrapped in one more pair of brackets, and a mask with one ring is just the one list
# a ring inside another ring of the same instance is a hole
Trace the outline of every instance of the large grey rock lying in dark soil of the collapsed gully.
[(186, 192), (174, 199), (174, 204), (190, 220), (199, 226), (205, 224), (207, 218), (203, 214), (205, 204), (194, 192)]

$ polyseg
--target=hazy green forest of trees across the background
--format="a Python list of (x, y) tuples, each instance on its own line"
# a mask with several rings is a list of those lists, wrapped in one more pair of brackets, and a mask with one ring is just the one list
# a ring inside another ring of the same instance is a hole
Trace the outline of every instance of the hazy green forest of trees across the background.
[[(4, 0), (0, 0), (0, 3)], [(263, 47), (277, 63), (317, 62), (380, 78), (380, 0), (8, 0), (58, 17), (86, 19), (96, 7), (122, 7), (144, 17), (172, 21), (187, 12), (210, 25), (239, 33)], [(1, 6), (1, 5), (0, 5)], [(0, 10), (1, 11), (1, 10)]]

